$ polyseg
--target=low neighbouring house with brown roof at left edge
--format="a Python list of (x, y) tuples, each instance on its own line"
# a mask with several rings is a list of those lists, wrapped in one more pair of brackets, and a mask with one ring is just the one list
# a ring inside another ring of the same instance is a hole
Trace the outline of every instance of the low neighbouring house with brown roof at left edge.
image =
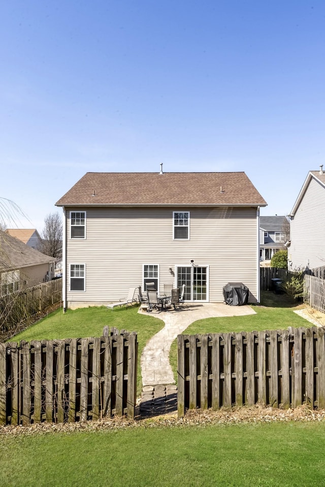
[(54, 259), (0, 231), (0, 295), (51, 280)]

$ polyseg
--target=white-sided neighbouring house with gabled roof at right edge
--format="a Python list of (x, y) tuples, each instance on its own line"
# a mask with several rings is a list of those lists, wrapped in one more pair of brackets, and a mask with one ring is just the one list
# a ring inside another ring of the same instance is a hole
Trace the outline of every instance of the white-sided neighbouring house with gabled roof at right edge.
[(325, 173), (309, 171), (291, 210), (288, 268), (314, 269), (325, 265)]

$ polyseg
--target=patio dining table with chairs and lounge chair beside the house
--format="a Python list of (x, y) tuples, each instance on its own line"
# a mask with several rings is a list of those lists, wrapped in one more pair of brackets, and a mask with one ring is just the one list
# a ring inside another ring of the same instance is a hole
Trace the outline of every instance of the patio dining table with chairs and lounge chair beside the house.
[(171, 284), (164, 284), (164, 291), (159, 294), (155, 289), (154, 282), (146, 283), (146, 294), (142, 294), (141, 286), (136, 288), (129, 288), (128, 294), (125, 299), (110, 303), (107, 308), (114, 309), (117, 306), (133, 305), (134, 302), (139, 302), (142, 309), (148, 312), (156, 310), (158, 313), (161, 311), (167, 311), (173, 309), (180, 311), (180, 303), (184, 302), (185, 284), (180, 288), (173, 288)]

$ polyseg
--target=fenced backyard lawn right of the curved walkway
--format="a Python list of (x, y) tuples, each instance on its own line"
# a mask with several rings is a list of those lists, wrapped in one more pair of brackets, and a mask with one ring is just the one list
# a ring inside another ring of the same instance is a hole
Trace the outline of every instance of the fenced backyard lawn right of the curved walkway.
[[(206, 318), (194, 321), (186, 328), (183, 334), (230, 333), (240, 331), (263, 331), (286, 329), (288, 326), (311, 326), (294, 310), (301, 308), (290, 301), (286, 294), (262, 293), (261, 304), (253, 305), (255, 315), (229, 316), (223, 318)], [(177, 340), (171, 345), (170, 364), (177, 383)]]

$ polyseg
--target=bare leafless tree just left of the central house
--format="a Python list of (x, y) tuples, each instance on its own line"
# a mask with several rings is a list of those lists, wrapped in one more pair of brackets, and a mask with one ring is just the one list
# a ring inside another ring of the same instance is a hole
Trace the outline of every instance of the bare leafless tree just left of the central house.
[(41, 252), (56, 259), (56, 263), (62, 259), (62, 219), (58, 212), (49, 213), (44, 219), (44, 230), (41, 233)]

